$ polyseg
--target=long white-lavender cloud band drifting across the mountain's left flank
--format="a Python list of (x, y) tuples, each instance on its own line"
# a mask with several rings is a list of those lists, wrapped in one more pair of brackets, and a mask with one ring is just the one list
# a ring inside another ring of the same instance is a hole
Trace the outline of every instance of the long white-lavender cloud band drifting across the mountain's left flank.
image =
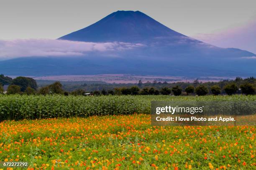
[(33, 56), (79, 56), (87, 52), (129, 50), (142, 47), (140, 43), (79, 42), (69, 40), (0, 40), (0, 60)]

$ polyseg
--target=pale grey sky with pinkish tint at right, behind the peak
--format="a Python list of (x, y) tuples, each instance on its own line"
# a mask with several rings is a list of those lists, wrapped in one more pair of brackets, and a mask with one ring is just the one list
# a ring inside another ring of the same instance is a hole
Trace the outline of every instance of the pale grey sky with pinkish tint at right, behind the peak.
[(0, 0), (0, 40), (56, 39), (117, 10), (139, 10), (184, 35), (256, 53), (256, 0)]

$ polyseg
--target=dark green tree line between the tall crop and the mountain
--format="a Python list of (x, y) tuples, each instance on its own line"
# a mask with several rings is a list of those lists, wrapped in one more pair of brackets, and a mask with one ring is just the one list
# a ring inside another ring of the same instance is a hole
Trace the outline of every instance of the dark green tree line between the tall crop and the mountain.
[[(1, 79), (2, 76), (2, 79)], [(242, 79), (237, 77), (236, 80), (230, 81), (225, 84), (225, 86), (220, 86), (214, 84), (212, 86), (206, 86), (205, 83), (195, 80), (192, 84), (187, 83), (187, 86), (179, 86), (178, 83), (161, 83), (164, 87), (143, 87), (142, 81), (140, 80), (138, 84), (131, 87), (114, 87), (113, 89), (105, 90), (94, 90), (87, 92), (84, 89), (76, 89), (72, 92), (67, 92), (63, 89), (61, 82), (54, 82), (50, 85), (38, 88), (36, 80), (30, 77), (16, 77), (11, 79), (10, 77), (3, 79), (3, 75), (0, 75), (0, 80), (8, 80), (10, 85), (7, 89), (7, 94), (62, 94), (62, 95), (85, 95), (85, 93), (90, 93), (91, 95), (219, 95), (223, 91), (228, 95), (233, 95), (236, 93), (243, 93), (245, 95), (255, 94), (256, 79), (254, 77), (249, 77), (247, 79)], [(239, 83), (236, 83), (239, 82)], [(148, 83), (148, 82), (147, 82)], [(219, 82), (222, 83), (222, 82)], [(160, 84), (160, 83), (159, 83)], [(174, 86), (168, 87), (171, 84)], [(0, 93), (3, 93), (3, 86), (0, 84)]]

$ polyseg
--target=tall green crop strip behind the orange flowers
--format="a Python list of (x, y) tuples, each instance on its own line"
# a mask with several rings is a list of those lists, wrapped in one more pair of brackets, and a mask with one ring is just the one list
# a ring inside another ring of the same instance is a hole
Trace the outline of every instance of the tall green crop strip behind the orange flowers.
[(92, 115), (150, 114), (150, 103), (159, 101), (229, 101), (256, 100), (255, 95), (233, 96), (63, 96), (0, 95), (0, 121), (53, 117), (87, 117)]

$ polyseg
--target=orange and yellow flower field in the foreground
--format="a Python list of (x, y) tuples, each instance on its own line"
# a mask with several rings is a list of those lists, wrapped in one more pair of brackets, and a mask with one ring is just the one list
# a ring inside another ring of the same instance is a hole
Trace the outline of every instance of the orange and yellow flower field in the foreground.
[(150, 123), (148, 114), (3, 121), (0, 161), (30, 170), (256, 169), (255, 126)]

